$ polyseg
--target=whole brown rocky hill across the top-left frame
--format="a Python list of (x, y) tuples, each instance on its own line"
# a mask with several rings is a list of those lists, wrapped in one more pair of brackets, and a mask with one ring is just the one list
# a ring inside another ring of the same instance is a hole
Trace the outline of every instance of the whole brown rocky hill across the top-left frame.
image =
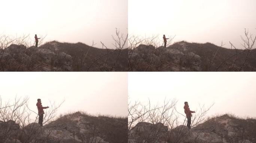
[(100, 49), (83, 43), (12, 44), (0, 50), (0, 71), (127, 71), (128, 49)]

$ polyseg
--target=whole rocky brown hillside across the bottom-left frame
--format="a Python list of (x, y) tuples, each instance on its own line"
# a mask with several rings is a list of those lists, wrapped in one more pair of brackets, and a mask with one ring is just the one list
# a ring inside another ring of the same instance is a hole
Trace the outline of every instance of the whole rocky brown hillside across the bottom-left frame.
[(127, 118), (76, 112), (40, 127), (0, 121), (1, 143), (127, 143)]

